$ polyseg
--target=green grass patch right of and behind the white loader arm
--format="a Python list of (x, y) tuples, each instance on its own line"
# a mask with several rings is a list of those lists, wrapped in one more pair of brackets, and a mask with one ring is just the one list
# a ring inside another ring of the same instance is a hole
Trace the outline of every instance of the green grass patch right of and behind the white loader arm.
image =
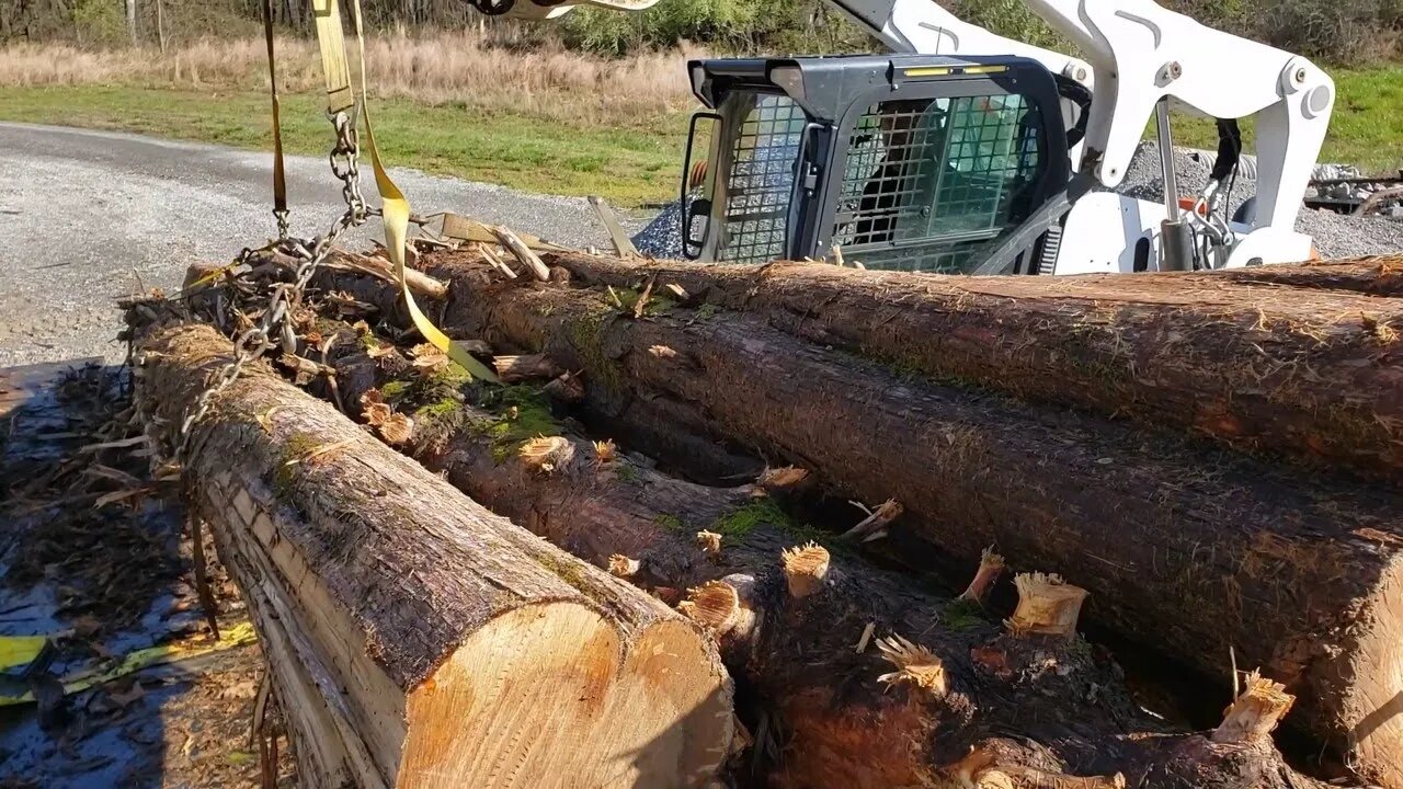
[[(1403, 167), (1403, 135), (1397, 125), (1403, 114), (1403, 66), (1327, 72), (1337, 95), (1320, 161), (1358, 164), (1367, 173), (1395, 173)], [(1173, 131), (1176, 145), (1218, 147), (1212, 121), (1176, 117)], [(1250, 146), (1250, 121), (1243, 124), (1243, 133)], [(1146, 136), (1153, 135), (1152, 121)]]

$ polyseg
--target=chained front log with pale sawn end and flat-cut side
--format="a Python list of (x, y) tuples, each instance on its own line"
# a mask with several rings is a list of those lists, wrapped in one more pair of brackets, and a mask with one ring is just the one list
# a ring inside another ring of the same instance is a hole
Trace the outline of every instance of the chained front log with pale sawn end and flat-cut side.
[[(152, 430), (181, 424), (230, 352), (208, 326), (147, 334), (137, 403)], [(302, 761), (327, 765), (313, 785), (713, 781), (731, 691), (694, 623), (262, 366), (210, 403), (184, 480), (279, 687), (311, 705), (292, 722), (321, 754)]]

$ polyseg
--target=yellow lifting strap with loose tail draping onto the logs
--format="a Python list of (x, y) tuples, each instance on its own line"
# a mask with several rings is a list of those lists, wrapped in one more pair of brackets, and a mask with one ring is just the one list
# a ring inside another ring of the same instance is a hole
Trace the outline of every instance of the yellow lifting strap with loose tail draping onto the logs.
[[(340, 86), (340, 74), (347, 74), (347, 79), (349, 79), (349, 76), (345, 60), (345, 44), (341, 34), (341, 10), (337, 6), (337, 0), (317, 0), (317, 3), (325, 7), (325, 14), (320, 10), (317, 13), (317, 38), (321, 41), (323, 67), (327, 72), (327, 98), (330, 108), (330, 105), (337, 102), (335, 91), (338, 90), (337, 86)], [(463, 345), (450, 340), (448, 334), (439, 331), (438, 326), (434, 326), (434, 321), (424, 314), (418, 302), (414, 300), (414, 293), (410, 292), (410, 286), (404, 281), (404, 244), (410, 232), (410, 201), (404, 198), (404, 192), (394, 185), (394, 181), (390, 180), (390, 174), (384, 171), (384, 164), (380, 161), (380, 150), (375, 145), (375, 129), (370, 125), (370, 108), (366, 104), (365, 29), (361, 21), (361, 0), (352, 0), (351, 10), (351, 21), (355, 25), (355, 38), (361, 55), (361, 117), (365, 118), (365, 143), (366, 147), (370, 149), (370, 164), (375, 167), (375, 188), (380, 192), (380, 218), (384, 222), (384, 248), (390, 253), (390, 261), (394, 264), (394, 278), (400, 285), (400, 293), (404, 296), (404, 306), (410, 310), (410, 317), (414, 320), (414, 327), (419, 330), (419, 334), (422, 334), (424, 338), (428, 340), (435, 348), (448, 354), (449, 359), (466, 369), (469, 375), (474, 378), (481, 378), (483, 380), (492, 383), (501, 383), (495, 372), (492, 372), (483, 362), (477, 361), (467, 352), (466, 348), (463, 348)], [(331, 28), (334, 28), (334, 32)], [(327, 34), (325, 37), (323, 37), (324, 31)], [(333, 80), (333, 74), (337, 74), (337, 80)], [(349, 90), (349, 81), (347, 83), (347, 87)], [(334, 110), (331, 111), (334, 112)]]

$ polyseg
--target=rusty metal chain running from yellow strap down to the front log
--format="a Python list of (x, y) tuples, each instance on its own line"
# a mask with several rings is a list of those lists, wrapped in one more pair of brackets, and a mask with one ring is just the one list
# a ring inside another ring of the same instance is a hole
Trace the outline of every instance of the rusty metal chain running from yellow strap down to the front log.
[[(341, 195), (347, 204), (345, 212), (333, 222), (324, 234), (310, 241), (288, 237), (286, 212), (282, 212), (281, 216), (275, 212), (281, 241), (278, 246), (299, 260), (297, 268), (293, 271), (293, 279), (292, 282), (274, 285), (272, 295), (268, 299), (268, 309), (264, 310), (258, 324), (234, 340), (234, 359), (215, 375), (209, 387), (195, 400), (195, 406), (185, 416), (177, 432), (175, 456), (173, 458), (175, 462), (184, 463), (185, 455), (189, 451), (191, 435), (194, 434), (192, 428), (209, 413), (215, 396), (239, 379), (246, 365), (262, 358), (268, 350), (279, 344), (286, 352), (296, 352), (297, 337), (293, 333), (292, 321), (288, 320), (293, 306), (302, 302), (307, 282), (311, 281), (311, 275), (316, 274), (317, 267), (331, 253), (337, 239), (348, 229), (363, 225), (366, 216), (369, 216), (370, 212), (365, 205), (365, 198), (361, 195), (361, 173), (356, 167), (356, 160), (361, 154), (361, 142), (355, 128), (356, 115), (348, 115), (344, 110), (330, 115), (331, 126), (337, 133), (337, 143), (331, 149), (330, 156), (331, 173), (341, 180)], [(251, 254), (253, 250), (243, 250), (236, 260), (236, 265), (243, 264)]]

